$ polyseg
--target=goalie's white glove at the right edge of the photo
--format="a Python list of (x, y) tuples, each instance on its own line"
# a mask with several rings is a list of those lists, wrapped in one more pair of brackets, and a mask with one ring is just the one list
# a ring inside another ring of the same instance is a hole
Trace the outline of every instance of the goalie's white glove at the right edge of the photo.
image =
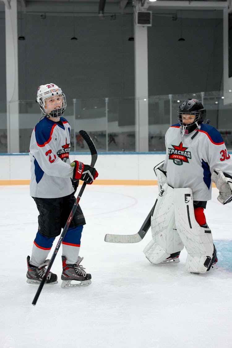
[(211, 180), (219, 190), (217, 200), (222, 204), (229, 203), (232, 200), (232, 178), (230, 176), (226, 177), (220, 169), (215, 168)]

